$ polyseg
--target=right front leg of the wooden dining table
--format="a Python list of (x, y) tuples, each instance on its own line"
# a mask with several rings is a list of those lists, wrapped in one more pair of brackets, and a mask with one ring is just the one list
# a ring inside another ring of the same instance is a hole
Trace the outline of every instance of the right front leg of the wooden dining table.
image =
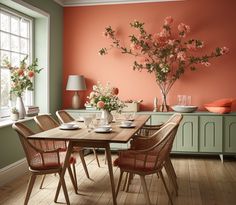
[(111, 191), (112, 191), (113, 204), (117, 205), (114, 175), (113, 175), (112, 160), (111, 160), (111, 150), (110, 150), (109, 144), (106, 146), (106, 157), (107, 157), (107, 166), (108, 166), (110, 181), (111, 181)]

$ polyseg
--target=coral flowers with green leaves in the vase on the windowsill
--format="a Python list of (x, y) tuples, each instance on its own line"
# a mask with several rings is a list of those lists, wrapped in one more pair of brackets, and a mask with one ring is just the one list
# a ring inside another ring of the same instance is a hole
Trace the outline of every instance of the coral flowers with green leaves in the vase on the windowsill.
[(19, 67), (12, 67), (11, 63), (5, 59), (4, 66), (9, 68), (11, 71), (11, 90), (10, 94), (14, 94), (17, 97), (21, 97), (23, 92), (28, 90), (33, 90), (33, 77), (36, 73), (40, 73), (42, 69), (38, 69), (38, 59), (36, 58), (33, 63), (27, 66), (28, 56), (26, 56), (22, 61), (20, 61)]

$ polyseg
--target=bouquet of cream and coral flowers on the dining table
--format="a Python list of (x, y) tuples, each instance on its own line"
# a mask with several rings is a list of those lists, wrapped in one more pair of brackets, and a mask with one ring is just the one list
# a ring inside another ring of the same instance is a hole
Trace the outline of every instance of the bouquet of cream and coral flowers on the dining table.
[(87, 97), (92, 107), (98, 110), (107, 110), (111, 112), (116, 110), (121, 112), (125, 106), (124, 103), (118, 98), (119, 89), (112, 87), (110, 83), (103, 86), (100, 82), (93, 86), (93, 91)]

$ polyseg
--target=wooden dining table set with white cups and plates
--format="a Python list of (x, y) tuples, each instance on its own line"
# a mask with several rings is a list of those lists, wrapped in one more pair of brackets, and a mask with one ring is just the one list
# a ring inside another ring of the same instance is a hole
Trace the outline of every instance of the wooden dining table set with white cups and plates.
[[(53, 128), (47, 131), (43, 131), (29, 136), (29, 139), (46, 139), (46, 140), (65, 140), (68, 142), (68, 149), (66, 152), (65, 161), (62, 168), (62, 177), (64, 177), (67, 167), (69, 166), (69, 158), (73, 152), (73, 147), (93, 147), (104, 148), (106, 151), (107, 165), (110, 175), (111, 191), (113, 204), (116, 205), (115, 196), (115, 182), (112, 168), (112, 158), (110, 143), (127, 143), (135, 133), (148, 121), (150, 115), (136, 115), (134, 117), (132, 128), (122, 128), (121, 121), (117, 120), (111, 123), (112, 131), (109, 133), (96, 133), (94, 130), (88, 130), (84, 123), (74, 121), (79, 125), (79, 129), (74, 130), (62, 130), (60, 127)], [(67, 190), (64, 190), (66, 203), (70, 204)]]

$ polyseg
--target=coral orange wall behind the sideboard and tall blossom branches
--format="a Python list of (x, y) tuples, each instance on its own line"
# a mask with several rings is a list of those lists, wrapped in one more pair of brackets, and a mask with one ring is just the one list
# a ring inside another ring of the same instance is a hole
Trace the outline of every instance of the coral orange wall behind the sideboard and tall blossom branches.
[[(145, 22), (148, 31), (159, 31), (163, 19), (172, 16), (177, 23), (191, 27), (189, 37), (206, 42), (210, 51), (216, 46), (227, 46), (230, 53), (211, 61), (209, 68), (199, 67), (186, 72), (172, 87), (168, 101), (177, 102), (178, 94), (192, 96), (193, 104), (203, 108), (204, 103), (236, 97), (236, 1), (235, 0), (186, 0), (180, 2), (123, 4), (64, 8), (64, 71), (63, 107), (69, 108), (72, 93), (65, 91), (69, 74), (86, 77), (88, 90), (80, 92), (83, 102), (97, 81), (109, 81), (120, 90), (121, 99), (143, 99), (142, 110), (153, 109), (155, 96), (160, 90), (154, 74), (132, 70), (134, 58), (117, 51), (99, 56), (101, 47), (109, 43), (102, 35), (104, 27), (111, 25), (119, 31), (119, 37), (128, 42), (129, 22), (134, 19)], [(236, 106), (234, 105), (234, 110)]]

